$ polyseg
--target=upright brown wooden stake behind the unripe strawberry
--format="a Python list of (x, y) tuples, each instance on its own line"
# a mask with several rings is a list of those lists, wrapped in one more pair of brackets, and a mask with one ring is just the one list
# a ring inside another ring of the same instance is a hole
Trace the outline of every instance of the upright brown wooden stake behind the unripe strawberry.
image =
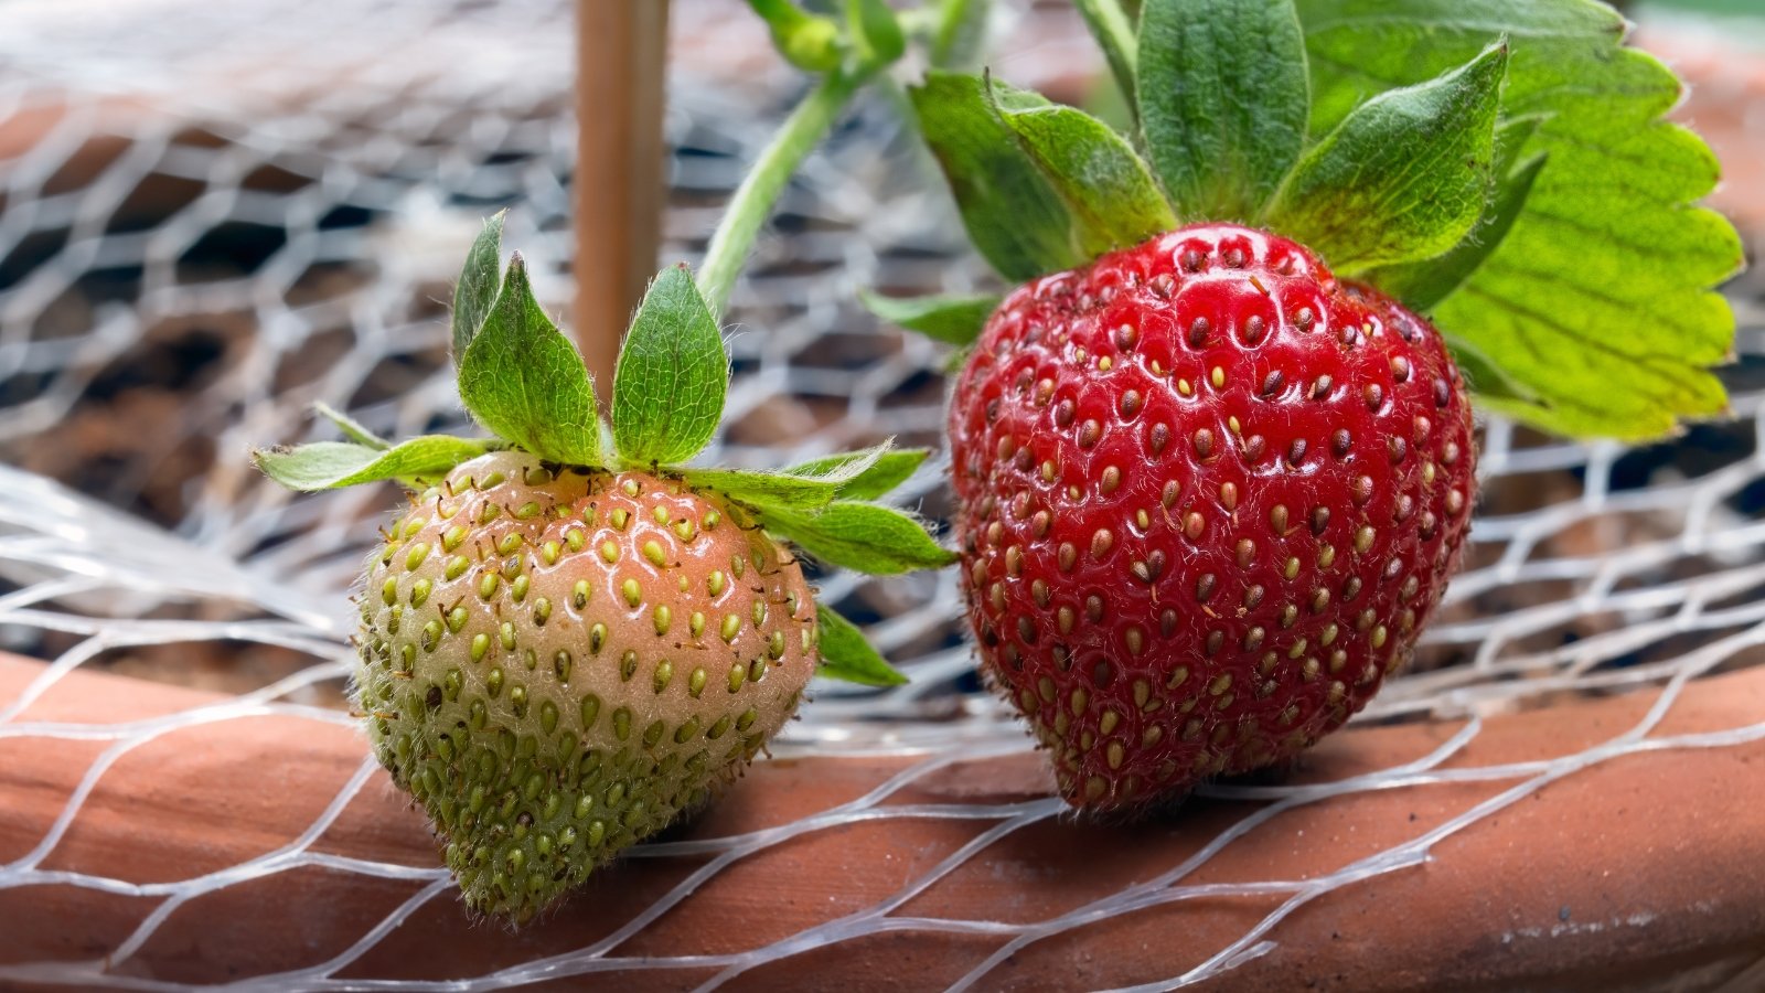
[(575, 306), (605, 406), (660, 244), (667, 0), (577, 0)]

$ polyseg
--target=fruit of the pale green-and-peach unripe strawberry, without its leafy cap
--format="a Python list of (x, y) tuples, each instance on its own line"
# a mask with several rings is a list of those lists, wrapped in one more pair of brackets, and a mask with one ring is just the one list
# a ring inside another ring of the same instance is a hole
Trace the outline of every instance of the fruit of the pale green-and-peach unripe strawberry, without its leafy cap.
[(530, 919), (796, 710), (815, 603), (738, 514), (678, 479), (494, 452), (392, 523), (357, 700), (471, 908)]

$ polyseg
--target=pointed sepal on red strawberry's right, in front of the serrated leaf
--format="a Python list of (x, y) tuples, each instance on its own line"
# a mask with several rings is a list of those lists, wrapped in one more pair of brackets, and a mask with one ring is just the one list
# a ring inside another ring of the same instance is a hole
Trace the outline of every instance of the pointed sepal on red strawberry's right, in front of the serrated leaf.
[(1310, 148), (1269, 226), (1338, 274), (1437, 256), (1483, 216), (1507, 44), (1357, 106)]

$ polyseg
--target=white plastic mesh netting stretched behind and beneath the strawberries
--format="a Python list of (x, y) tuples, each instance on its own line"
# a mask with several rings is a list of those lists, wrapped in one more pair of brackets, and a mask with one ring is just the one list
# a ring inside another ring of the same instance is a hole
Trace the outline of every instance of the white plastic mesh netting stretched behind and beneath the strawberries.
[[(727, 5), (680, 5), (690, 11), (676, 19), (704, 25), (706, 35), (732, 23)], [(1006, 11), (1003, 19), (1018, 16)], [(1027, 922), (902, 912), (990, 845), (1061, 813), (1054, 799), (890, 802), (953, 762), (1031, 747), (973, 675), (953, 572), (821, 576), (824, 597), (863, 620), (913, 684), (888, 693), (821, 687), (775, 747), (913, 756), (902, 772), (791, 823), (641, 846), (635, 859), (699, 862), (660, 898), (634, 901), (623, 926), (563, 954), (447, 981), (364, 975), (376, 945), (425, 906), (452, 899), (439, 868), (314, 848), (353, 799), (385, 788), (369, 760), (293, 841), (249, 860), (161, 882), (58, 868), (55, 853), (106, 774), (164, 735), (277, 719), (351, 724), (344, 588), (392, 493), (291, 496), (256, 477), (244, 452), (328, 436), (309, 428), (307, 408), (318, 399), (385, 435), (462, 429), (439, 300), (478, 219), (494, 208), (512, 208), (507, 242), (542, 274), (540, 292), (563, 304), (575, 148), (570, 32), (561, 30), (570, 4), (39, 0), (11, 4), (7, 18), (0, 648), (48, 666), (14, 696), (0, 696), (0, 749), (42, 740), (101, 747), (48, 830), (4, 855), (0, 894), (76, 887), (138, 898), (145, 910), (99, 954), (0, 956), (0, 984), (176, 986), (129, 968), (168, 919), (228, 887), (311, 866), (415, 889), (346, 949), (231, 977), (235, 986), (478, 989), (678, 968), (710, 970), (702, 982), (717, 986), (886, 929), (992, 938), (992, 951), (958, 982), (987, 986), (1017, 951), (1117, 913), (1197, 898), (1278, 898), (1161, 988), (1269, 951), (1297, 906), (1417, 866), (1444, 838), (1548, 783), (1638, 751), (1765, 739), (1765, 714), (1721, 731), (1656, 733), (1687, 680), (1765, 657), (1765, 307), (1758, 283), (1737, 283), (1733, 421), (1647, 449), (1486, 426), (1486, 496), (1468, 565), (1417, 670), (1389, 684), (1359, 719), (1468, 719), (1456, 735), (1426, 758), (1347, 779), (1213, 786), (1216, 797), (1262, 806), (1246, 806), (1211, 845), (1154, 878), (1082, 906)], [(701, 55), (717, 49), (704, 37), (681, 42)], [(1068, 48), (1033, 49), (1006, 67), (1022, 69), (1038, 51), (1063, 58)], [(748, 62), (766, 58), (757, 49)], [(727, 51), (678, 60), (667, 118), (669, 258), (692, 260), (702, 249), (717, 207), (794, 87), (789, 74), (750, 72)], [(778, 235), (736, 295), (729, 421), (708, 458), (778, 463), (886, 435), (939, 443), (944, 350), (877, 327), (854, 307), (852, 290), (955, 292), (981, 279), (948, 216), (923, 163), (898, 140), (888, 102), (867, 104), (803, 170)], [(946, 507), (941, 468), (927, 466), (904, 491), (932, 516)], [(106, 723), (37, 717), (35, 707), (81, 668), (217, 696)], [(1647, 716), (1594, 747), (1523, 763), (1442, 765), (1481, 733), (1486, 716), (1634, 687), (1654, 694)], [(1296, 806), (1447, 781), (1502, 790), (1320, 876), (1188, 882)], [(785, 938), (725, 954), (623, 951), (731, 866), (814, 832), (886, 818), (944, 818), (969, 834), (888, 899)]]

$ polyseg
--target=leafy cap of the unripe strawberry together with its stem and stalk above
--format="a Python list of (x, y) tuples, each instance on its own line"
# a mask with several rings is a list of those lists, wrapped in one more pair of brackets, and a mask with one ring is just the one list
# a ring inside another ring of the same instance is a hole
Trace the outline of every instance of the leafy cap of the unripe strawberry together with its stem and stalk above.
[[(895, 574), (948, 565), (916, 516), (886, 495), (927, 458), (891, 440), (861, 452), (810, 459), (782, 470), (688, 465), (711, 442), (724, 413), (729, 355), (718, 327), (736, 276), (789, 177), (868, 80), (900, 60), (909, 42), (932, 65), (973, 57), (985, 4), (953, 0), (895, 11), (884, 0), (847, 0), (844, 21), (791, 0), (750, 0), (780, 55), (814, 72), (817, 85), (771, 138), (731, 200), (697, 281), (685, 265), (664, 269), (644, 293), (612, 376), (611, 419), (570, 339), (533, 295), (519, 253), (501, 265), (503, 214), (475, 239), (454, 293), (452, 352), (466, 412), (489, 438), (425, 435), (379, 438), (319, 405), (344, 442), (252, 452), (272, 479), (304, 491), (378, 481), (422, 489), (455, 466), (498, 451), (591, 474), (644, 472), (729, 504), (757, 532), (789, 541), (830, 565)], [(838, 631), (821, 652), (822, 675), (865, 684), (904, 682), (849, 622), (821, 610)]]

